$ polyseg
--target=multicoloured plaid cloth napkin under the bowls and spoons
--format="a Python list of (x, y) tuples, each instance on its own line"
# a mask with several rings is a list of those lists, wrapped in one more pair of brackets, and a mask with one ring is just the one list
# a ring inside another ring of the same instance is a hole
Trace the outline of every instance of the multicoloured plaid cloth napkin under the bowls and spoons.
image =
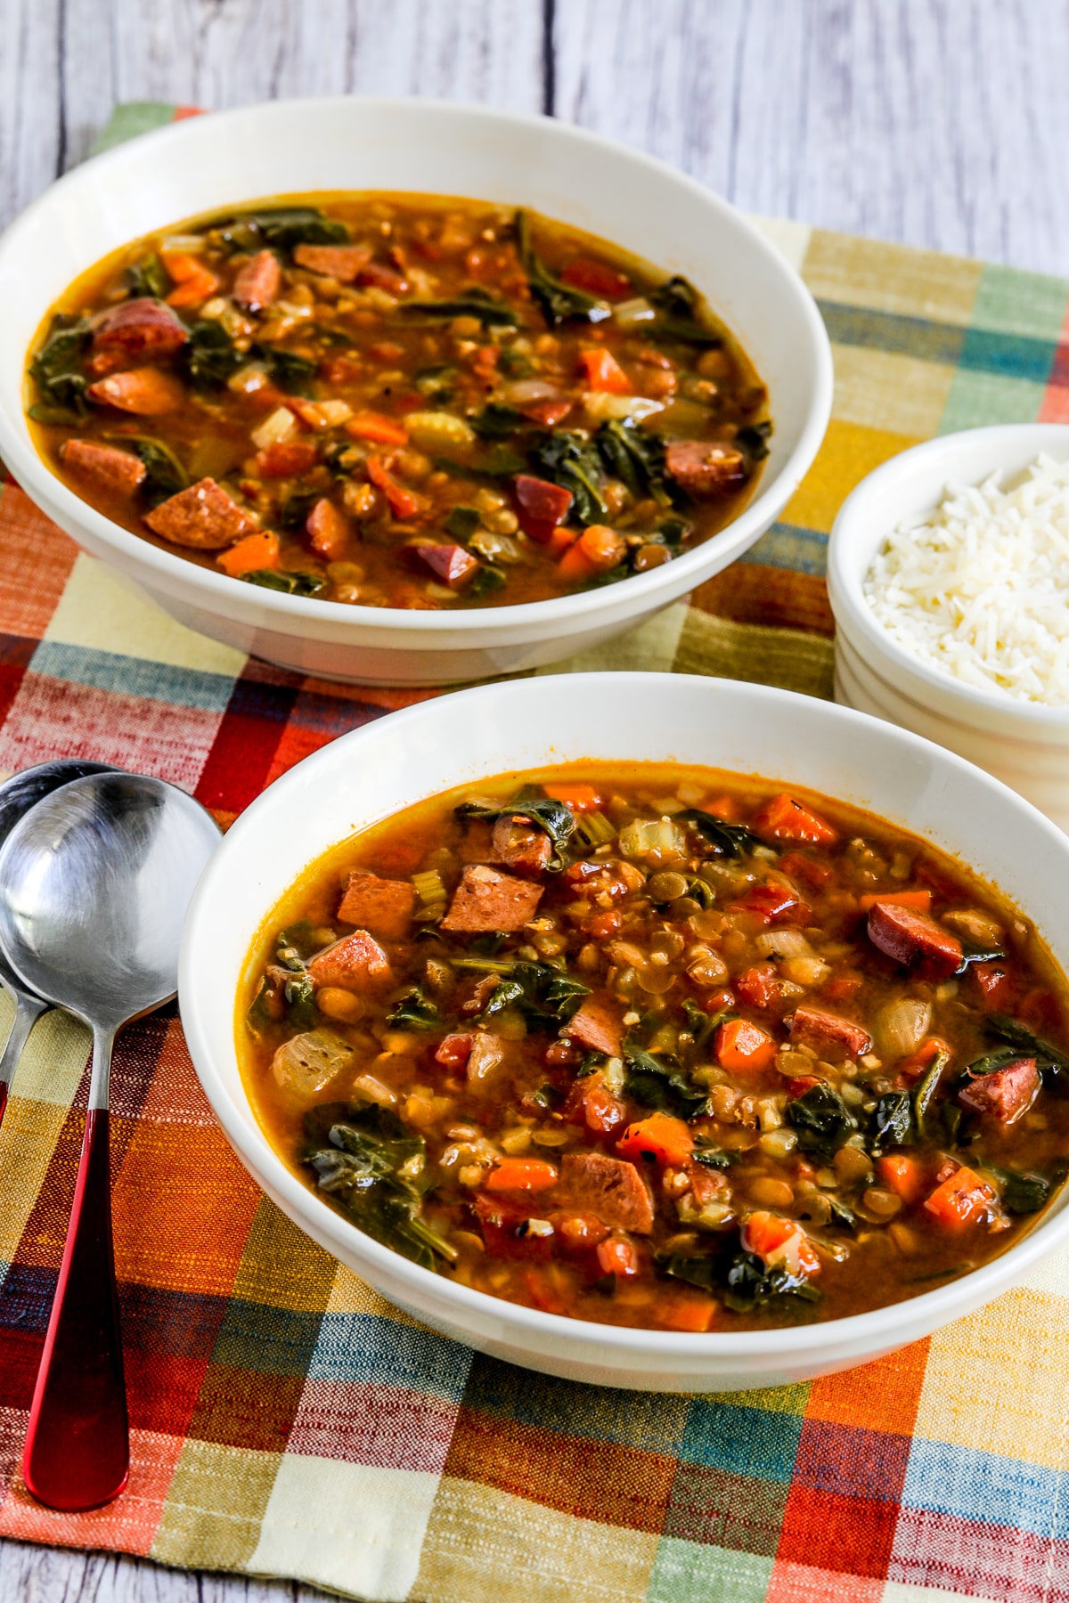
[[(107, 139), (171, 115), (123, 107)], [(1066, 281), (764, 226), (835, 341), (817, 463), (745, 561), (548, 672), (829, 696), (824, 547), (843, 495), (936, 433), (1069, 422)], [(308, 752), (413, 699), (192, 635), (14, 484), (0, 492), (2, 771), (104, 758), (228, 822)], [(811, 1385), (676, 1398), (542, 1379), (425, 1330), (305, 1239), (231, 1156), (173, 1011), (125, 1034), (112, 1076), (130, 1489), (88, 1515), (37, 1507), (19, 1454), (87, 1048), (46, 1016), (0, 1129), (0, 1534), (426, 1603), (1069, 1600), (1069, 1258)]]

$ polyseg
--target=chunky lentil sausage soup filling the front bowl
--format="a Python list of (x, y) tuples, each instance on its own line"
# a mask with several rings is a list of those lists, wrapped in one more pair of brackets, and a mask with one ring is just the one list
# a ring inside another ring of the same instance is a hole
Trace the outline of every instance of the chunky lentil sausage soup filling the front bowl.
[(824, 797), (583, 765), (335, 848), (250, 957), (264, 1130), (495, 1297), (760, 1329), (1000, 1254), (1064, 1175), (1064, 991), (958, 864)]

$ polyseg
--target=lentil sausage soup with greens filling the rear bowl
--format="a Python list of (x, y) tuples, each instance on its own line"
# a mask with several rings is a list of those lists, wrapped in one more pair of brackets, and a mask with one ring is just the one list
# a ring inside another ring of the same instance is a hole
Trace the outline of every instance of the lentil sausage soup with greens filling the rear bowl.
[(694, 287), (476, 200), (298, 197), (99, 263), (29, 415), (98, 511), (242, 583), (377, 608), (542, 601), (715, 537), (768, 396)]

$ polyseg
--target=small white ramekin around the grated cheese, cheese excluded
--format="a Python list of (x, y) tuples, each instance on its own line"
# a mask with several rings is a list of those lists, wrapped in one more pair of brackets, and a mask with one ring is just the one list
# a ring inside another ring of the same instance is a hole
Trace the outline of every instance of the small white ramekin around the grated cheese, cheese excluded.
[(958, 752), (1069, 829), (1069, 707), (973, 689), (910, 656), (877, 622), (862, 583), (888, 534), (934, 508), (949, 484), (1018, 473), (1040, 452), (1069, 457), (1069, 425), (1005, 423), (944, 434), (870, 473), (843, 502), (827, 556), (835, 699)]

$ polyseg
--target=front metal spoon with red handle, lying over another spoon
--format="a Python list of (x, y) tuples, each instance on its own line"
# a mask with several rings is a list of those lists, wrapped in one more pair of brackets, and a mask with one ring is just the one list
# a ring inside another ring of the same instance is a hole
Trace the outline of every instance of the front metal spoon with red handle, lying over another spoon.
[(82, 1157), (22, 1476), (80, 1512), (127, 1484), (130, 1436), (111, 1234), (107, 1084), (115, 1032), (175, 995), (178, 941), (220, 842), (204, 808), (143, 774), (75, 779), (0, 850), (0, 947), (19, 979), (93, 1031)]

